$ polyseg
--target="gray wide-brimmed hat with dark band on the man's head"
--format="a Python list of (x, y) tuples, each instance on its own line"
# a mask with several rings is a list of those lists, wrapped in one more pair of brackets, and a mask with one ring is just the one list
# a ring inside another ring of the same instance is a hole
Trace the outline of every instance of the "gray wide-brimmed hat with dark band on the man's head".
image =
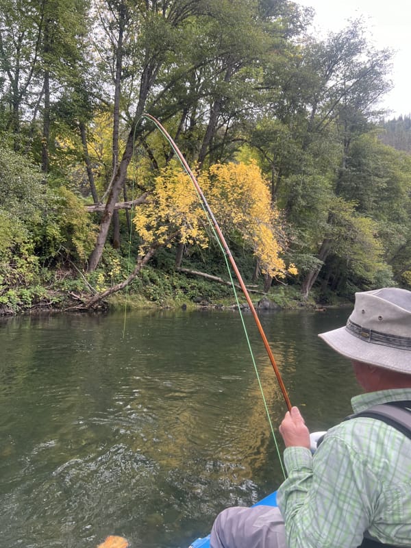
[(347, 325), (319, 337), (346, 358), (411, 375), (411, 292), (356, 293)]

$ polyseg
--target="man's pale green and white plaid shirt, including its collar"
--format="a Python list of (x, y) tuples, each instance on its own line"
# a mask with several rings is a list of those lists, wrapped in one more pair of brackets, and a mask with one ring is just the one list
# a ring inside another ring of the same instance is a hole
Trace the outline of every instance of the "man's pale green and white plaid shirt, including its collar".
[[(356, 396), (354, 412), (411, 400), (411, 388)], [(289, 548), (356, 548), (363, 532), (411, 547), (411, 440), (377, 419), (330, 429), (312, 456), (284, 451), (288, 477), (277, 493)]]

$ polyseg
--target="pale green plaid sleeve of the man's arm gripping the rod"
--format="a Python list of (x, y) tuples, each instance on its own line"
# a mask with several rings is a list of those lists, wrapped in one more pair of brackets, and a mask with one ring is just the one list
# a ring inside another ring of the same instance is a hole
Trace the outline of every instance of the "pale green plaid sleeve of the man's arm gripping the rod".
[(351, 548), (362, 542), (373, 502), (366, 462), (347, 440), (328, 435), (310, 456), (308, 449), (284, 452), (288, 478), (277, 501), (292, 548)]

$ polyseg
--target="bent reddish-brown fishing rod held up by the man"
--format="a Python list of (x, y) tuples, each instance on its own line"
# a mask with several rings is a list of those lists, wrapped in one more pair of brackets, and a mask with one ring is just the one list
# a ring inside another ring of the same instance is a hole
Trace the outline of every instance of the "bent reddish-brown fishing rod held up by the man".
[(171, 147), (173, 148), (173, 151), (175, 151), (175, 153), (177, 154), (177, 157), (178, 157), (179, 161), (181, 162), (182, 166), (184, 167), (184, 170), (186, 171), (187, 175), (190, 177), (190, 179), (192, 181), (192, 184), (194, 184), (195, 189), (197, 190), (197, 193), (198, 193), (198, 195), (199, 195), (199, 197), (200, 197), (200, 199), (203, 203), (203, 207), (206, 209), (206, 211), (208, 213), (208, 216), (210, 217), (210, 219), (212, 221), (212, 224), (214, 225), (214, 229), (216, 231), (216, 234), (219, 236), (219, 240), (221, 242), (221, 245), (223, 246), (225, 254), (226, 254), (230, 264), (232, 265), (232, 269), (234, 270), (234, 273), (236, 274), (236, 277), (238, 279), (238, 283), (240, 284), (241, 290), (245, 295), (245, 299), (247, 300), (248, 306), (251, 310), (251, 314), (253, 314), (253, 319), (256, 322), (256, 325), (258, 327), (258, 332), (260, 333), (260, 336), (262, 338), (262, 342), (264, 343), (264, 347), (265, 347), (266, 352), (269, 356), (269, 360), (271, 362), (271, 365), (273, 366), (273, 370), (274, 370), (275, 376), (277, 377), (277, 382), (278, 382), (279, 388), (282, 391), (284, 401), (286, 402), (286, 406), (288, 408), (288, 411), (290, 411), (291, 410), (290, 398), (288, 397), (288, 393), (287, 393), (286, 387), (284, 385), (282, 376), (279, 373), (279, 369), (278, 369), (277, 364), (275, 362), (273, 352), (271, 351), (269, 341), (266, 338), (266, 334), (264, 333), (264, 329), (262, 328), (260, 319), (258, 318), (256, 308), (254, 308), (253, 302), (251, 301), (251, 298), (249, 296), (249, 292), (248, 292), (248, 290), (245, 286), (245, 283), (242, 280), (242, 276), (240, 274), (240, 271), (238, 270), (238, 266), (236, 264), (236, 261), (234, 260), (234, 257), (232, 256), (232, 252), (230, 251), (230, 249), (227, 245), (227, 242), (225, 241), (223, 232), (221, 232), (221, 228), (219, 227), (219, 223), (217, 223), (217, 221), (214, 217), (214, 214), (213, 214), (210, 206), (208, 205), (206, 197), (203, 195), (203, 191), (201, 190), (201, 188), (200, 188), (200, 186), (197, 182), (197, 179), (195, 178), (194, 174), (192, 173), (192, 171), (190, 169), (190, 166), (188, 166), (188, 163), (186, 162), (186, 159), (184, 158), (184, 155), (179, 150), (179, 148), (175, 144), (173, 138), (171, 138), (170, 134), (161, 125), (161, 123), (157, 119), (155, 119), (154, 116), (151, 116), (151, 114), (142, 114), (142, 117), (151, 120), (158, 127), (158, 129), (160, 129), (160, 132), (162, 132), (162, 134), (164, 135), (166, 140), (169, 141)]

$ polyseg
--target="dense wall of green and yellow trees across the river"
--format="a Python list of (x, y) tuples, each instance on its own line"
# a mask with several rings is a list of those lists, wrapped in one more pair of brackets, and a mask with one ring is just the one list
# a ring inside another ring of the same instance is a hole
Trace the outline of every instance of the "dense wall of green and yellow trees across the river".
[(389, 123), (380, 138), (391, 53), (362, 21), (310, 36), (311, 17), (288, 0), (3, 0), (3, 312), (212, 299), (192, 271), (229, 279), (146, 113), (256, 290), (408, 287), (411, 158)]

